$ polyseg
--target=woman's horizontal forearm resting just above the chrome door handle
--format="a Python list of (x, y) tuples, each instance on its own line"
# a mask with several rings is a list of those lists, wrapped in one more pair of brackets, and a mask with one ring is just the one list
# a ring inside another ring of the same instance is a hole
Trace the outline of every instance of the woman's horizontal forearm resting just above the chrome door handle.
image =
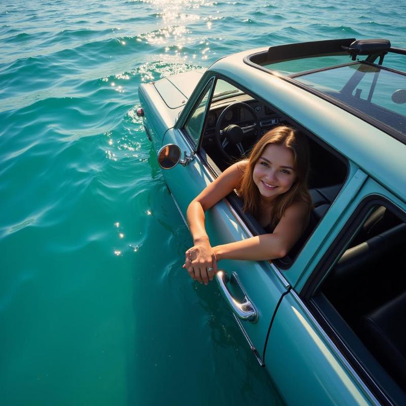
[(279, 235), (263, 234), (234, 243), (218, 245), (213, 249), (217, 260), (267, 261), (284, 257), (287, 254), (287, 248)]

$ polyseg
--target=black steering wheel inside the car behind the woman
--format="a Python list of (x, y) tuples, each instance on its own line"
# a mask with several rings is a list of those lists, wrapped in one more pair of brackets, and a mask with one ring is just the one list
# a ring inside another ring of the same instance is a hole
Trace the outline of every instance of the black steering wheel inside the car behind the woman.
[[(252, 114), (252, 117), (255, 120), (254, 124), (248, 125), (246, 127), (240, 127), (239, 125), (236, 124), (230, 124), (224, 129), (221, 129), (225, 115), (229, 110), (231, 110), (236, 106), (240, 106), (241, 108), (247, 109)], [(250, 105), (248, 105), (247, 103), (243, 103), (242, 101), (236, 101), (235, 103), (231, 103), (229, 106), (227, 106), (222, 111), (217, 120), (216, 133), (214, 137), (216, 140), (217, 147), (220, 153), (223, 155), (223, 157), (227, 160), (231, 159), (231, 155), (225, 149), (226, 147), (228, 147), (227, 149), (229, 149), (230, 147), (236, 147), (240, 151), (241, 155), (244, 155), (245, 151), (242, 141), (245, 138), (246, 133), (250, 132), (253, 133), (255, 129), (257, 130), (257, 136), (260, 136), (261, 125), (259, 124), (258, 115)], [(221, 137), (224, 137), (224, 139), (221, 140)]]

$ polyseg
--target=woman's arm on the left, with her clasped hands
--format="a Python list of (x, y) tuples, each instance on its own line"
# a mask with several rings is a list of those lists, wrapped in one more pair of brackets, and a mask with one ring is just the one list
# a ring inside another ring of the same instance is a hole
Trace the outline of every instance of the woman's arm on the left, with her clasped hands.
[[(193, 247), (186, 251), (185, 265), (189, 275), (208, 284), (217, 270), (217, 260), (205, 228), (205, 211), (235, 189), (241, 179), (245, 161), (229, 166), (214, 182), (195, 197), (186, 212)], [(208, 274), (207, 268), (213, 268)]]

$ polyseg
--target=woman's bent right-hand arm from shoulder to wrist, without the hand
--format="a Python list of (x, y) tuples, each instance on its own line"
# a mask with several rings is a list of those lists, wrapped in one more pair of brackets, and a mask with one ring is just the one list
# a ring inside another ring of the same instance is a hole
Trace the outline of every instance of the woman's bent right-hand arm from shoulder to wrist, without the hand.
[(217, 260), (269, 260), (284, 257), (299, 239), (307, 221), (306, 204), (294, 203), (286, 210), (272, 234), (263, 234), (213, 248)]

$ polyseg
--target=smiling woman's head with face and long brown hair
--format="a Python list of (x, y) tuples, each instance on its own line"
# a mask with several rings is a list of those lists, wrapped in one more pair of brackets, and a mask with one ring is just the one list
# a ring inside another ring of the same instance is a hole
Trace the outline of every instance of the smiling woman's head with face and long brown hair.
[[(309, 147), (303, 134), (289, 126), (268, 131), (252, 150), (242, 178), (239, 194), (244, 210), (261, 226), (274, 229), (293, 202), (304, 202), (310, 208), (308, 177)], [(261, 204), (271, 210), (261, 211)], [(263, 218), (264, 214), (268, 216)]]

